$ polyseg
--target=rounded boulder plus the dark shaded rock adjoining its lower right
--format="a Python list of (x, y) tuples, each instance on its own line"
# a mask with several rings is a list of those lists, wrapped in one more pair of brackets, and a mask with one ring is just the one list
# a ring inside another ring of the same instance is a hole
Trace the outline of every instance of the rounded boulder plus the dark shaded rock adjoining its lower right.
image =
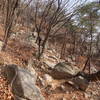
[(66, 80), (68, 84), (72, 85), (76, 89), (85, 91), (89, 85), (88, 77), (81, 73), (80, 69), (76, 66), (71, 65), (69, 62), (61, 62), (54, 66), (53, 69), (50, 68), (49, 74), (57, 80)]

